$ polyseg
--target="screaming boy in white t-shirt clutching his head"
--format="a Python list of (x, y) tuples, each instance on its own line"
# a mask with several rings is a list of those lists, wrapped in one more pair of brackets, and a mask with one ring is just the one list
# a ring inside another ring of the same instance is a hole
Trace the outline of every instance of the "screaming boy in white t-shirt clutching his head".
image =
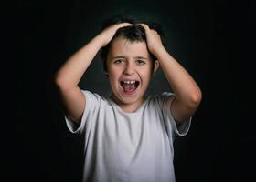
[[(108, 98), (78, 86), (101, 48)], [(158, 66), (175, 94), (144, 95)], [(85, 137), (83, 181), (175, 181), (174, 136), (187, 134), (201, 91), (154, 29), (112, 22), (60, 67), (55, 82), (69, 130)]]

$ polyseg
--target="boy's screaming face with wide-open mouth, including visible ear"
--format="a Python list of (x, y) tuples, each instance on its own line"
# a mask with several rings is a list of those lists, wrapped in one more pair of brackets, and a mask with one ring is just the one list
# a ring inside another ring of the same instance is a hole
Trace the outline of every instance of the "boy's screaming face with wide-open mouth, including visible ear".
[[(113, 40), (107, 56), (107, 69), (112, 96), (119, 106), (138, 107), (153, 72), (158, 67), (145, 42), (130, 42), (122, 37)], [(154, 66), (154, 68), (153, 68)]]

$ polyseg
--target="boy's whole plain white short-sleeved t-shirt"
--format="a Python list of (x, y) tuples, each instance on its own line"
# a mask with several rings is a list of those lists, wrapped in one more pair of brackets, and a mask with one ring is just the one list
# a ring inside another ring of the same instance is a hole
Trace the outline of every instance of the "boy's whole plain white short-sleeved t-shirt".
[(148, 96), (133, 113), (111, 98), (89, 91), (79, 127), (65, 116), (69, 130), (85, 137), (85, 182), (174, 182), (173, 141), (185, 136), (191, 118), (176, 126), (171, 93)]

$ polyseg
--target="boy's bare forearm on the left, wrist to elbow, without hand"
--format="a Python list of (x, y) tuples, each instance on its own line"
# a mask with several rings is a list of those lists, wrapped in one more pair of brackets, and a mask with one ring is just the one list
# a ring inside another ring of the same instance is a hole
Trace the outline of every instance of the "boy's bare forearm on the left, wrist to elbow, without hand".
[(100, 35), (97, 35), (87, 45), (84, 45), (74, 55), (70, 56), (56, 74), (56, 83), (64, 88), (78, 86), (81, 76), (101, 49), (102, 44)]

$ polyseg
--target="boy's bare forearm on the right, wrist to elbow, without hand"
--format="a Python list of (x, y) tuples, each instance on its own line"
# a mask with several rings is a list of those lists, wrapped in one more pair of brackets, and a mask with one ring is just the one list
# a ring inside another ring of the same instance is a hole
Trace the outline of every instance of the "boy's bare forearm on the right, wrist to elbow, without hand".
[(201, 99), (201, 91), (187, 70), (173, 56), (169, 55), (164, 46), (155, 52), (155, 56), (176, 94), (176, 99), (186, 106), (197, 105)]

